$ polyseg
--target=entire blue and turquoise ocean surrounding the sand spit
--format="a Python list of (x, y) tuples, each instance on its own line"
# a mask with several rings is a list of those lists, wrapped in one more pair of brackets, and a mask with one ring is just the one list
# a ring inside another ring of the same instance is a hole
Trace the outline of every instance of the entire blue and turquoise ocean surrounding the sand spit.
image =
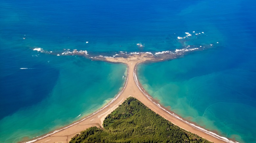
[(2, 0), (0, 142), (24, 141), (82, 119), (124, 85), (124, 64), (34, 48), (101, 54), (199, 46), (210, 48), (139, 64), (139, 82), (182, 118), (238, 142), (256, 142), (255, 3)]

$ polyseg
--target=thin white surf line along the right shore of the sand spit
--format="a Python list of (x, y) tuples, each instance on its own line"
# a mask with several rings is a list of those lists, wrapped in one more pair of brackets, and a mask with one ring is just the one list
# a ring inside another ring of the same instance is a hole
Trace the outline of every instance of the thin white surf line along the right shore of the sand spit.
[[(160, 104), (154, 102), (154, 101), (153, 101), (153, 98), (152, 98), (150, 95), (148, 95), (148, 93), (144, 90), (144, 88), (139, 84), (139, 81), (138, 81), (137, 75), (136, 75), (136, 68), (137, 68), (137, 65), (138, 65), (138, 64), (139, 64), (139, 63), (137, 63), (137, 64), (135, 65), (135, 68), (134, 68), (134, 71), (133, 71), (133, 78), (134, 78), (134, 81), (135, 81), (137, 87), (139, 88), (139, 90), (140, 90), (152, 103), (154, 103), (154, 104), (157, 105), (160, 109), (164, 110), (165, 112), (167, 112), (167, 113), (170, 114), (171, 116), (175, 117), (176, 119), (180, 119), (182, 122), (184, 122), (184, 123), (186, 123), (186, 124), (188, 124), (188, 125), (190, 125), (190, 126), (196, 128), (196, 129), (198, 129), (199, 131), (202, 131), (202, 132), (204, 132), (204, 133), (206, 133), (206, 134), (208, 134), (208, 135), (211, 135), (211, 136), (213, 136), (213, 137), (215, 137), (215, 138), (218, 138), (218, 139), (220, 139), (220, 140), (223, 140), (223, 141), (225, 141), (225, 142), (228, 142), (228, 143), (235, 143), (234, 141), (229, 140), (229, 139), (227, 139), (226, 137), (217, 135), (217, 134), (215, 134), (215, 133), (213, 133), (213, 132), (210, 132), (210, 131), (207, 131), (206, 129), (203, 129), (203, 128), (199, 127), (199, 126), (196, 126), (195, 124), (189, 123), (189, 122), (186, 121), (186, 120), (183, 120), (182, 118), (180, 118), (179, 116), (175, 115), (174, 113), (171, 113), (171, 112), (169, 112), (168, 110), (164, 109)], [(237, 143), (238, 143), (238, 142), (237, 142)]]

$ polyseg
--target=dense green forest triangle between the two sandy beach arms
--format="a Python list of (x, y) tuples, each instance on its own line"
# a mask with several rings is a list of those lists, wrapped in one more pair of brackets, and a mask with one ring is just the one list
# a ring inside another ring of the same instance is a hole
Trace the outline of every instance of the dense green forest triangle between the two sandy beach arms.
[(75, 135), (70, 143), (209, 142), (172, 124), (133, 97), (127, 98), (109, 114), (103, 127), (88, 128)]

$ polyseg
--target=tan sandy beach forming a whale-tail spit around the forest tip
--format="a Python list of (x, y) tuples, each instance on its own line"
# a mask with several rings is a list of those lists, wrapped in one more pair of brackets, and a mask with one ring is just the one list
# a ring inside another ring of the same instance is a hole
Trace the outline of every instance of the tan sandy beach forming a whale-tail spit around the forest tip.
[[(36, 143), (53, 143), (53, 142), (69, 142), (70, 139), (78, 134), (79, 132), (92, 127), (102, 127), (103, 120), (105, 117), (110, 114), (113, 110), (115, 110), (119, 104), (121, 104), (127, 97), (133, 96), (137, 98), (140, 102), (145, 104), (151, 110), (162, 116), (163, 118), (171, 121), (173, 124), (189, 131), (194, 134), (197, 134), (209, 141), (212, 142), (232, 142), (222, 138), (218, 135), (210, 135), (211, 133), (204, 131), (204, 129), (196, 128), (195, 126), (187, 123), (183, 119), (179, 119), (177, 115), (174, 115), (173, 112), (168, 110), (167, 108), (161, 106), (156, 100), (151, 98), (146, 91), (139, 85), (139, 82), (136, 77), (136, 66), (138, 63), (142, 63), (145, 61), (151, 60), (152, 57), (143, 54), (140, 55), (131, 55), (128, 58), (105, 58), (105, 61), (108, 62), (121, 62), (125, 63), (128, 67), (127, 79), (124, 88), (122, 91), (113, 99), (110, 103), (106, 106), (102, 107), (100, 110), (96, 111), (95, 113), (91, 114), (90, 116), (73, 123), (70, 126), (67, 126), (63, 129), (60, 129), (58, 132), (49, 133), (48, 135), (43, 135), (40, 138), (34, 138), (30, 142)], [(177, 116), (177, 117), (175, 117)]]

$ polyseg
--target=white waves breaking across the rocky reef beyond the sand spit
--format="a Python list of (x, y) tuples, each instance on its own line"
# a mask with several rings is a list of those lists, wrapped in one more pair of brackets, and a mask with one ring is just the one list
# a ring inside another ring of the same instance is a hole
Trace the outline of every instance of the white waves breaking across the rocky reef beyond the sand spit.
[[(186, 40), (193, 40), (199, 36), (207, 36), (204, 32), (195, 32), (192, 31), (191, 33), (189, 32), (184, 32), (184, 36), (178, 36), (177, 41), (182, 41), (184, 39)], [(86, 42), (88, 43), (88, 42)], [(88, 52), (87, 50), (77, 50), (77, 49), (63, 49), (59, 51), (47, 51), (44, 50), (43, 48), (40, 47), (34, 47), (33, 50), (40, 52), (40, 53), (45, 53), (45, 54), (50, 54), (50, 55), (55, 55), (55, 56), (83, 56), (86, 58), (89, 58), (91, 60), (104, 60), (104, 58), (116, 58), (116, 57), (124, 57), (127, 58), (132, 55), (148, 55), (148, 56), (154, 56), (155, 61), (157, 60), (170, 60), (177, 58), (179, 56), (183, 56), (185, 54), (188, 54), (191, 51), (198, 51), (198, 50), (204, 50), (208, 48), (213, 48), (213, 43), (208, 43), (208, 44), (201, 44), (201, 45), (187, 45), (186, 42), (181, 42), (182, 46), (178, 49), (172, 49), (172, 50), (166, 50), (166, 51), (147, 51), (147, 52), (104, 52), (104, 53), (98, 53), (98, 52)], [(219, 42), (216, 42), (217, 44)], [(144, 43), (136, 43), (136, 45), (139, 47), (144, 47)]]

